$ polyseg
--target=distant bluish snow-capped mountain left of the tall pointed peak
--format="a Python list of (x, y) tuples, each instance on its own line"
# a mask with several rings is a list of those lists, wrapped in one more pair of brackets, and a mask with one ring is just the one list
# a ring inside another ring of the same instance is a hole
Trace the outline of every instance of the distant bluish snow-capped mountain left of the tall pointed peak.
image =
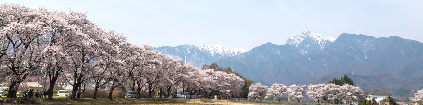
[(213, 63), (222, 57), (233, 57), (247, 52), (243, 48), (229, 48), (222, 45), (179, 45), (176, 47), (162, 46), (154, 47), (166, 55), (181, 59), (184, 63), (190, 63), (192, 66), (201, 67), (204, 64)]

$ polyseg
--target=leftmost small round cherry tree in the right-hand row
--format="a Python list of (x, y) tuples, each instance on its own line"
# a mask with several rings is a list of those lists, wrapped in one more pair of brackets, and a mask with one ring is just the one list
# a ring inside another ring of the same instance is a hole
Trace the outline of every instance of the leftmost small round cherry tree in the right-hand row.
[(249, 91), (248, 99), (263, 100), (267, 92), (267, 86), (261, 85), (259, 83), (251, 84)]

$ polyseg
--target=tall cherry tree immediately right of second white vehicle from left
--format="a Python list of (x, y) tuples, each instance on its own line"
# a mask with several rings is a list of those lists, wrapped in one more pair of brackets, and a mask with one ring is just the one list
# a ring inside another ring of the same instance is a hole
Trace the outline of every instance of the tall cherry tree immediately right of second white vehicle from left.
[(74, 28), (69, 31), (73, 33), (69, 33), (65, 38), (67, 44), (63, 45), (71, 61), (70, 67), (63, 69), (63, 76), (73, 87), (71, 99), (75, 99), (83, 92), (78, 91), (81, 84), (93, 77), (99, 46), (105, 41), (105, 37), (102, 35), (104, 31), (89, 21), (85, 13), (71, 11), (68, 14), (69, 23), (72, 23)]

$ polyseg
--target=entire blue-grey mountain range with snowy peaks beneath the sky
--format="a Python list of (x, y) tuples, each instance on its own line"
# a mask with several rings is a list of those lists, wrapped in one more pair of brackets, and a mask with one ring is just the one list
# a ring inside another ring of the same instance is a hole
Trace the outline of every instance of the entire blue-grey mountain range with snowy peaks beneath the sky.
[(327, 84), (346, 74), (365, 92), (392, 88), (401, 97), (410, 94), (406, 90), (423, 88), (423, 43), (401, 37), (343, 33), (335, 39), (305, 31), (289, 37), (285, 45), (267, 42), (250, 51), (214, 46), (155, 49), (197, 67), (212, 62), (229, 66), (262, 84)]

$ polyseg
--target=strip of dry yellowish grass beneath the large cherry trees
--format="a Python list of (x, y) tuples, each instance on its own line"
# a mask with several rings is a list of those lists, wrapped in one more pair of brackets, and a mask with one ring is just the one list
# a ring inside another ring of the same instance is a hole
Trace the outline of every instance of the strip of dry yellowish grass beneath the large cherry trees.
[[(116, 98), (113, 101), (107, 98), (78, 98), (71, 100), (70, 98), (54, 98), (54, 100), (39, 101), (38, 105), (256, 105), (255, 103), (236, 103), (226, 100), (213, 99), (180, 99), (180, 98)], [(37, 104), (31, 104), (37, 105)]]

